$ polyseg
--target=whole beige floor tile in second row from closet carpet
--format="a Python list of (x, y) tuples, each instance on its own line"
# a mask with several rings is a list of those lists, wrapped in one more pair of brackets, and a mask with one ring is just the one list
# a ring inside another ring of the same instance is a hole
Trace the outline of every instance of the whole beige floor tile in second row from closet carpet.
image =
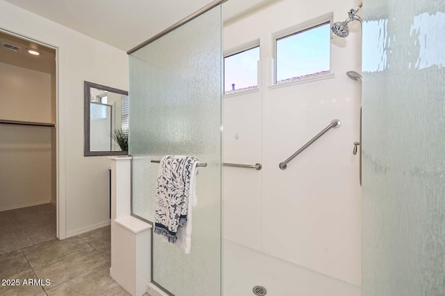
[(92, 247), (62, 256), (33, 268), (40, 279), (51, 280), (51, 286), (62, 284), (99, 266), (107, 265), (105, 257)]

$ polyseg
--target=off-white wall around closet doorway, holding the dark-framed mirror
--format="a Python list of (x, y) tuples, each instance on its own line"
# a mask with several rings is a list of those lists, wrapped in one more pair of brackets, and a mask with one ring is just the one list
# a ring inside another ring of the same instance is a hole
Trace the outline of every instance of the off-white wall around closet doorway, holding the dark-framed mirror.
[[(0, 0), (0, 28), (58, 48), (58, 206), (61, 238), (109, 223), (106, 157), (83, 157), (83, 81), (128, 89), (120, 49)], [(65, 231), (64, 231), (65, 229)]]

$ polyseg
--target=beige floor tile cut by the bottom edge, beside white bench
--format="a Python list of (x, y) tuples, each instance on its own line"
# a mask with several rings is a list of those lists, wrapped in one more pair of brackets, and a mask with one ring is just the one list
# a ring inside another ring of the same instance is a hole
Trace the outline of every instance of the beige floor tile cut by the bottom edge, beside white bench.
[(110, 277), (106, 266), (95, 268), (79, 277), (65, 281), (54, 288), (47, 289), (49, 296), (84, 295), (84, 296), (125, 296), (130, 295)]

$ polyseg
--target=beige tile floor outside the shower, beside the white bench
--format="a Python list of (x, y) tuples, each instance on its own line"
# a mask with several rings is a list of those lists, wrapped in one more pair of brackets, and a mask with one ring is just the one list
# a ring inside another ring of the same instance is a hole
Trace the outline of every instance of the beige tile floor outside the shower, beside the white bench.
[[(0, 286), (0, 295), (129, 295), (110, 277), (110, 227), (52, 240), (0, 255), (0, 284), (19, 279), (19, 286)], [(49, 279), (49, 286), (23, 284), (24, 279)]]

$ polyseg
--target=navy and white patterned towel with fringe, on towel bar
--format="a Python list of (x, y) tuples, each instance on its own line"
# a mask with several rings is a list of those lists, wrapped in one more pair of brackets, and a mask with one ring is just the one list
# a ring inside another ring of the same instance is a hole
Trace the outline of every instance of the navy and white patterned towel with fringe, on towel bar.
[(196, 157), (167, 155), (159, 164), (154, 233), (170, 243), (176, 243), (178, 227), (187, 224), (191, 173), (197, 162)]

